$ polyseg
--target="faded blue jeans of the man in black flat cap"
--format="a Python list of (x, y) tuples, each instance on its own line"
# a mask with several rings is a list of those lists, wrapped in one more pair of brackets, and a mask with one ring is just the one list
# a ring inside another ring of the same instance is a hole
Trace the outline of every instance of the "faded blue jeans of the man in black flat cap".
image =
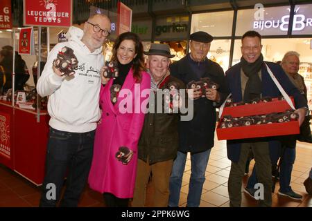
[[(187, 195), (187, 206), (198, 207), (202, 195), (202, 185), (205, 182), (205, 172), (211, 149), (200, 153), (191, 153), (191, 177), (189, 180), (189, 194)], [(177, 158), (173, 162), (173, 169), (170, 177), (170, 196), (168, 206), (179, 206), (182, 177), (187, 153), (177, 151)]]

